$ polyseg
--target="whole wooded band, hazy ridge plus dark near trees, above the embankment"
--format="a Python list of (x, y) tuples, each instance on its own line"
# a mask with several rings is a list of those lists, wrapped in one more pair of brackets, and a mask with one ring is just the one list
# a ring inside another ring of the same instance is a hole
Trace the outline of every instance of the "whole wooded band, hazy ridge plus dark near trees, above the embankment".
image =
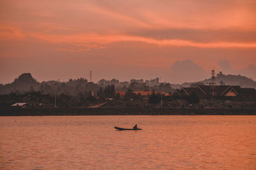
[(182, 96), (177, 95), (182, 90), (173, 89), (170, 83), (160, 83), (159, 78), (124, 82), (102, 79), (97, 83), (79, 78), (68, 82), (39, 83), (31, 74), (25, 73), (13, 83), (2, 85), (0, 91), (1, 108), (15, 103), (28, 103), (27, 106), (32, 108), (51, 108), (55, 101), (60, 108), (256, 108), (255, 94), (200, 96), (192, 91)]

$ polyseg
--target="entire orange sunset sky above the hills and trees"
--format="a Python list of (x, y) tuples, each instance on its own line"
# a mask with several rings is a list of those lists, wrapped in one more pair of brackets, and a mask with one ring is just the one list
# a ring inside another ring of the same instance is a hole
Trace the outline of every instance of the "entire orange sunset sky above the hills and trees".
[(0, 83), (256, 80), (255, 0), (0, 1)]

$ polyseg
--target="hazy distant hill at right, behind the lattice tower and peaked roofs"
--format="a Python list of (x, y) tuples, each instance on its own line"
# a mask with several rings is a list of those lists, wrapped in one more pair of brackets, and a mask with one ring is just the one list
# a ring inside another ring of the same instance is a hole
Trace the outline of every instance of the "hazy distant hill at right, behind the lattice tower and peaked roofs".
[[(193, 84), (202, 84), (209, 85), (211, 83), (211, 78), (205, 79), (202, 81), (196, 81), (191, 83), (183, 83), (182, 87), (189, 87)], [(242, 88), (254, 88), (256, 89), (256, 81), (253, 81), (252, 78), (247, 78), (246, 76), (241, 75), (225, 75), (221, 72), (216, 76), (216, 85), (239, 85)]]

